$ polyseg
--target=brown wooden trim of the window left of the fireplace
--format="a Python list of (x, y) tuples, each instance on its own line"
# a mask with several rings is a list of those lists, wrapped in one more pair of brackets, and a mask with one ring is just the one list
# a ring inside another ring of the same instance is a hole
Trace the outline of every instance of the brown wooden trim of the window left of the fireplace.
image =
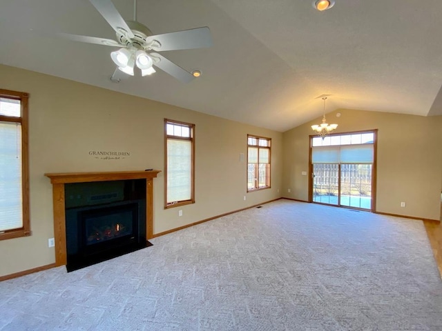
[(5, 99), (20, 100), (21, 117), (10, 117), (0, 114), (0, 121), (15, 122), (21, 124), (21, 194), (22, 194), (22, 217), (23, 226), (17, 229), (6, 230), (0, 233), (0, 240), (28, 237), (30, 231), (29, 214), (29, 144), (28, 144), (28, 99), (26, 92), (17, 92), (0, 89), (0, 97)]

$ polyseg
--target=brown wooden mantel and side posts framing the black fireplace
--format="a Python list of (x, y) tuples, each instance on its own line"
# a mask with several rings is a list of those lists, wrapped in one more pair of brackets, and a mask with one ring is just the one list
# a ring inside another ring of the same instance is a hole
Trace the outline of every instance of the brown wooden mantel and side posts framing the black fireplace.
[(64, 184), (86, 183), (90, 181), (123, 181), (126, 179), (146, 179), (146, 237), (153, 238), (153, 179), (161, 170), (118, 171), (118, 172), (65, 172), (44, 174), (52, 183), (54, 208), (55, 263), (66, 265), (66, 210)]

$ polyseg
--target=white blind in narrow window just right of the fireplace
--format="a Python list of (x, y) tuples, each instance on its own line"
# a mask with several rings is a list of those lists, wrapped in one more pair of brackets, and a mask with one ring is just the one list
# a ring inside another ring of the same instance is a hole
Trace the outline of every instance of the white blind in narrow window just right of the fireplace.
[(167, 139), (167, 201), (173, 203), (191, 199), (192, 143)]

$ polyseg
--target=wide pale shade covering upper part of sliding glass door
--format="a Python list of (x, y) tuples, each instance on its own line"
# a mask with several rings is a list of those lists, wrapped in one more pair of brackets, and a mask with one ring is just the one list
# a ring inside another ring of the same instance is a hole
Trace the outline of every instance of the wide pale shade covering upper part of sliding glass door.
[(311, 148), (311, 163), (373, 163), (373, 144)]

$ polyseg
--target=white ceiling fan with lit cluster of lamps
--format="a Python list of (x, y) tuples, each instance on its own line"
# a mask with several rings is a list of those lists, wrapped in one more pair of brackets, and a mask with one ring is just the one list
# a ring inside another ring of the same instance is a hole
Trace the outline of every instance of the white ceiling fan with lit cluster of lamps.
[(135, 68), (146, 76), (153, 74), (153, 67), (156, 67), (184, 83), (195, 78), (157, 52), (210, 47), (212, 38), (208, 27), (153, 35), (151, 30), (137, 22), (137, 0), (134, 0), (133, 21), (124, 21), (111, 0), (89, 1), (115, 30), (117, 40), (68, 33), (58, 33), (59, 36), (73, 41), (119, 47), (119, 50), (111, 52), (111, 59), (118, 70), (131, 76), (134, 76)]

